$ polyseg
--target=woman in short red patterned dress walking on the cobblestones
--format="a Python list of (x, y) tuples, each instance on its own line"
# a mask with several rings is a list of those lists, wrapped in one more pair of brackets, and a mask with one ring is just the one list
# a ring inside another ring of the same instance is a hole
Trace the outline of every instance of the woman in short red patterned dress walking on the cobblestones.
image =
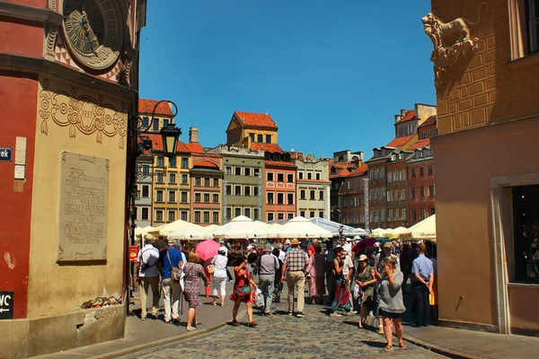
[(234, 291), (230, 296), (230, 300), (234, 301), (234, 309), (232, 310), (232, 321), (230, 324), (239, 326), (240, 323), (236, 319), (238, 310), (242, 302), (247, 305), (247, 318), (249, 322), (247, 326), (256, 327), (258, 324), (252, 321), (252, 302), (254, 301), (257, 285), (252, 281), (251, 272), (247, 267), (247, 258), (240, 258), (241, 264), (234, 267)]

